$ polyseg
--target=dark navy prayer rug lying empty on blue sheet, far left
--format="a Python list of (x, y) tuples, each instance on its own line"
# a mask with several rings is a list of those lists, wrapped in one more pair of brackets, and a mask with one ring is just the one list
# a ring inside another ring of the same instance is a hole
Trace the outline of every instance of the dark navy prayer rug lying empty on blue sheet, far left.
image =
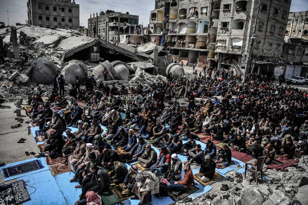
[(2, 169), (2, 175), (4, 178), (8, 178), (11, 176), (15, 176), (18, 174), (23, 174), (29, 171), (34, 171), (37, 169), (42, 169), (44, 168), (41, 160), (34, 160), (22, 164), (18, 164), (12, 167), (7, 167)]

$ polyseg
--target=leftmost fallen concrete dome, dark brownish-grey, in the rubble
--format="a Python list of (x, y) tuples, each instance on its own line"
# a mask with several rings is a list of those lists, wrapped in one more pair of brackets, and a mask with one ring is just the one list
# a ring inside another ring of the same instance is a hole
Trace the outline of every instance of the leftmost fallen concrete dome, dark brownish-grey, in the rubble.
[(52, 83), (52, 77), (57, 73), (57, 67), (52, 61), (46, 58), (39, 58), (35, 61), (30, 74), (32, 82), (49, 85)]

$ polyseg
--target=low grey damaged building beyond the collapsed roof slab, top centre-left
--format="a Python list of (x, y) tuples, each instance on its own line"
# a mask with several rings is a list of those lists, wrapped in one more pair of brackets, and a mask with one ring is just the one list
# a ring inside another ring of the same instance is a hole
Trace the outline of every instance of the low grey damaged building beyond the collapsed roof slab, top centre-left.
[[(93, 16), (92, 16), (93, 15)], [(100, 12), (92, 14), (88, 19), (88, 36), (94, 37), (94, 25), (96, 36), (111, 43), (120, 42), (120, 35), (134, 34), (139, 23), (139, 16), (120, 12)]]

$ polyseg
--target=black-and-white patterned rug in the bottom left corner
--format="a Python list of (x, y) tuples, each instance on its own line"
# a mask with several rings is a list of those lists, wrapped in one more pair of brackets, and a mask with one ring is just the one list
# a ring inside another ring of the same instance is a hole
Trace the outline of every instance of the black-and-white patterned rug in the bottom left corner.
[(30, 200), (29, 192), (26, 189), (24, 180), (18, 180), (0, 186), (0, 204), (14, 205), (22, 204)]

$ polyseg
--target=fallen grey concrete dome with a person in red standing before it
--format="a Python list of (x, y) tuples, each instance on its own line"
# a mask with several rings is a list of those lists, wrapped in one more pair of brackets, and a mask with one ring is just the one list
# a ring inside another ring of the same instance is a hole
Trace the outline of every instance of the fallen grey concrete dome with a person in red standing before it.
[[(103, 74), (103, 70), (105, 69), (107, 70), (107, 79), (105, 79)], [(104, 61), (103, 63), (100, 62), (99, 65), (93, 69), (92, 74), (94, 75), (94, 79), (96, 81), (112, 81), (119, 79), (118, 74), (109, 61)]]

